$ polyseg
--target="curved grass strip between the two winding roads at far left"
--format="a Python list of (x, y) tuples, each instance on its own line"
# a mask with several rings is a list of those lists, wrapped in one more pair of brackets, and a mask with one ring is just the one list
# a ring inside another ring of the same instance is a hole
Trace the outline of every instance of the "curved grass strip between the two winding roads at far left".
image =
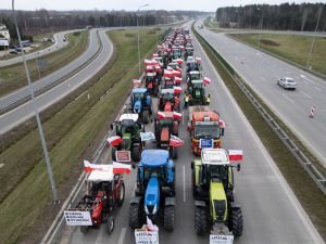
[[(85, 30), (70, 34), (66, 39), (68, 44), (65, 48), (39, 59), (39, 62), (40, 60), (43, 61), (43, 67), (38, 68), (36, 59), (27, 62), (32, 81), (36, 81), (67, 65), (85, 52), (88, 46), (88, 31)], [(26, 85), (27, 79), (23, 63), (0, 68), (0, 97)]]

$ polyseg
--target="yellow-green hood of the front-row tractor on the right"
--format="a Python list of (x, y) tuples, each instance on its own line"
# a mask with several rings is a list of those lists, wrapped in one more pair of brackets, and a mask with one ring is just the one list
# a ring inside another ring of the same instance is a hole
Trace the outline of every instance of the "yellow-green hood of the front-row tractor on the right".
[(210, 205), (211, 216), (214, 222), (223, 222), (227, 217), (227, 201), (223, 183), (221, 181), (211, 181), (210, 185)]

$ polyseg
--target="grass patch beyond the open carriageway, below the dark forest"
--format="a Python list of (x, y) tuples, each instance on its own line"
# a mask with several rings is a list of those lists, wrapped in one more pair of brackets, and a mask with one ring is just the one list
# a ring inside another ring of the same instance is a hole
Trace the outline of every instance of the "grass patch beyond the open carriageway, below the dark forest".
[[(233, 37), (259, 47), (259, 34), (236, 34)], [(313, 37), (300, 35), (262, 34), (263, 50), (275, 53), (299, 65), (306, 66)], [(316, 37), (310, 65), (312, 69), (326, 75), (326, 38)]]

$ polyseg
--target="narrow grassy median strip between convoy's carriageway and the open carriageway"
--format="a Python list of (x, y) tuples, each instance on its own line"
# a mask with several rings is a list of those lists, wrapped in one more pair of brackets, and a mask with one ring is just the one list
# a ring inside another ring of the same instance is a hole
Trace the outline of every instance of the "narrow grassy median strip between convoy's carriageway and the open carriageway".
[[(255, 130), (261, 141), (267, 149), (269, 155), (277, 164), (277, 167), (284, 175), (285, 179), (291, 187), (296, 196), (300, 201), (301, 205), (310, 216), (310, 219), (321, 233), (323, 239), (326, 239), (326, 197), (323, 192), (315, 185), (313, 180), (309, 177), (305, 170), (301, 167), (297, 158), (290, 153), (290, 151), (284, 145), (281, 140), (276, 136), (273, 129), (268, 126), (261, 114), (255, 110), (247, 97), (242, 93), (238, 85), (234, 81), (234, 78), (229, 75), (235, 74), (234, 69), (222, 59), (222, 56), (192, 28), (200, 44), (204, 48), (208, 56), (213, 63), (214, 67), (218, 72), (220, 76), (224, 80), (225, 85), (234, 95), (238, 105), (241, 107), (244, 116)], [(223, 64), (223, 65), (222, 65)], [(224, 66), (227, 68), (227, 72)], [(250, 89), (247, 86), (248, 89)], [(250, 92), (254, 92), (250, 89)], [(259, 102), (264, 105), (267, 112), (274, 117), (277, 123), (279, 119), (267, 108), (262, 100), (254, 94)], [(287, 132), (290, 132), (287, 130)], [(302, 146), (302, 144), (301, 144)], [(303, 149), (304, 150), (304, 149)], [(304, 153), (308, 151), (305, 150)], [(313, 158), (311, 156), (311, 158)]]

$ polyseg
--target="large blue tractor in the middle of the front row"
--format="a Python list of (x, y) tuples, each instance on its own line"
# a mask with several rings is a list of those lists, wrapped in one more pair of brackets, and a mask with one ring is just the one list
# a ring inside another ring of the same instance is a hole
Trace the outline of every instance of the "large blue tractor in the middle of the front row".
[(137, 188), (129, 206), (129, 227), (141, 228), (146, 217), (166, 231), (174, 229), (175, 168), (165, 150), (145, 150), (137, 172)]

